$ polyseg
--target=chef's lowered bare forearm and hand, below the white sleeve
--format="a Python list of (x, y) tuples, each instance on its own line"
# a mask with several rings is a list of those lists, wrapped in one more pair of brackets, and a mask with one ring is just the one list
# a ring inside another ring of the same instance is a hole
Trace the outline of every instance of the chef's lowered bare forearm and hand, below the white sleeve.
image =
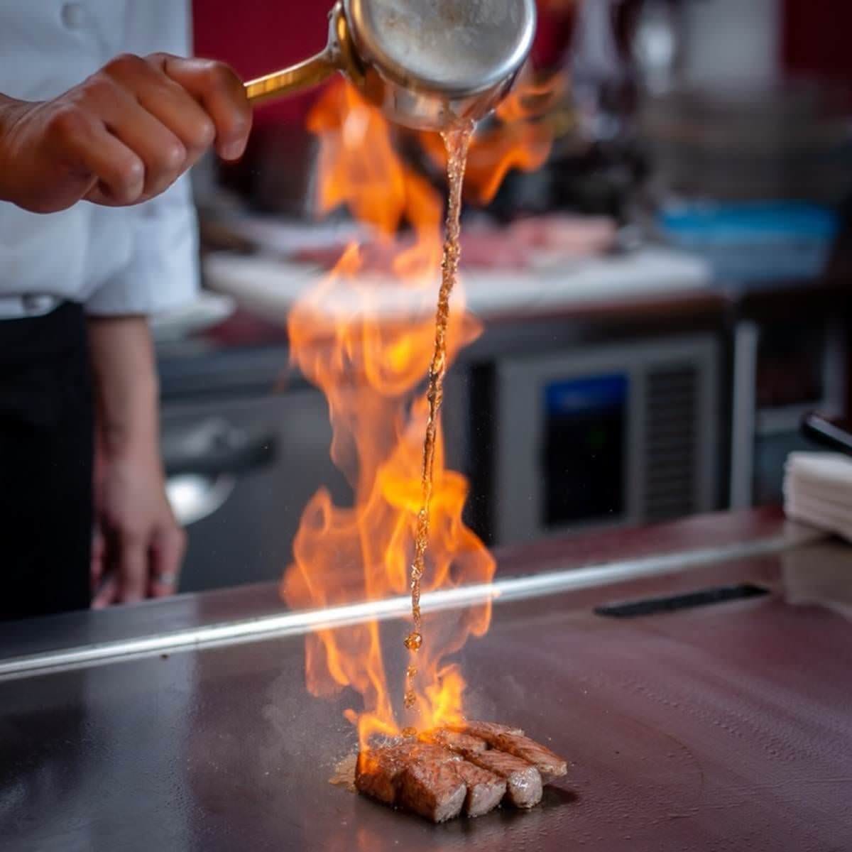
[(158, 382), (147, 319), (89, 319), (97, 464), (95, 607), (175, 591), (186, 536), (165, 497)]

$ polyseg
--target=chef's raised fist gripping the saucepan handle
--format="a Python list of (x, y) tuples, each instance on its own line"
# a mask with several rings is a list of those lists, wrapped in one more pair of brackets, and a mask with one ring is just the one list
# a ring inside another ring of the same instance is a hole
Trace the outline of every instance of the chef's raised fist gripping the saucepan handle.
[(36, 213), (139, 204), (211, 145), (245, 151), (251, 108), (221, 62), (121, 55), (53, 101), (0, 95), (0, 200)]

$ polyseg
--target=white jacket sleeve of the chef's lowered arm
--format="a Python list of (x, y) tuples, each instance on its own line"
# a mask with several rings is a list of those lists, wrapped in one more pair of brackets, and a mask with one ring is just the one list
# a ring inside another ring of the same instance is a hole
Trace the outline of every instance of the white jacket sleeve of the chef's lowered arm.
[[(192, 53), (188, 0), (145, 0), (125, 8), (124, 44), (117, 52)], [(126, 212), (132, 220), (129, 261), (89, 296), (87, 312), (158, 314), (192, 302), (199, 289), (199, 239), (188, 176)]]

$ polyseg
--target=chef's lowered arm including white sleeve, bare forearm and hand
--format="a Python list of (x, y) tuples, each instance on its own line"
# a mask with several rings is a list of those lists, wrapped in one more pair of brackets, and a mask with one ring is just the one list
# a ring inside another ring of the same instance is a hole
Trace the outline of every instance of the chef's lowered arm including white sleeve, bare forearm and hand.
[(176, 591), (185, 536), (166, 500), (148, 314), (190, 302), (198, 239), (186, 177), (133, 217), (129, 262), (86, 302), (99, 426), (94, 606)]

